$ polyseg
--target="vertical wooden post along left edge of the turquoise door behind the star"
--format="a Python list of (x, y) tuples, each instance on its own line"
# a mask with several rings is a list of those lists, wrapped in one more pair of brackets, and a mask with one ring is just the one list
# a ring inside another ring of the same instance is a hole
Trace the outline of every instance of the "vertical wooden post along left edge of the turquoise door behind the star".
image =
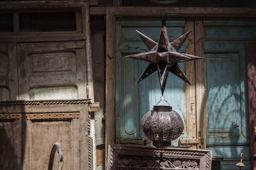
[[(115, 143), (115, 26), (111, 10), (106, 18), (106, 148)], [(108, 150), (106, 150), (107, 158)]]

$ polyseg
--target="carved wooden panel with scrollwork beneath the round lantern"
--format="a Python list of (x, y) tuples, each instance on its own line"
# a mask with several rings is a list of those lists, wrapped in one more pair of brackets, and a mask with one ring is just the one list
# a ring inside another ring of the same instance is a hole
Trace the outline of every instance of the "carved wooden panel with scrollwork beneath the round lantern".
[(109, 145), (108, 170), (211, 169), (212, 152), (181, 148)]

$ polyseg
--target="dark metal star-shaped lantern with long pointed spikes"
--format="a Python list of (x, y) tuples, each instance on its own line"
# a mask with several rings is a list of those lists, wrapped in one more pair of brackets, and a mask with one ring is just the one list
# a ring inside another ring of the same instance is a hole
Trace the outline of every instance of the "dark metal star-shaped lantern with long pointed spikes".
[(177, 52), (180, 46), (186, 40), (186, 38), (188, 38), (188, 35), (191, 31), (186, 32), (186, 34), (183, 34), (171, 43), (169, 42), (167, 29), (165, 26), (161, 29), (158, 43), (148, 38), (141, 32), (136, 32), (140, 35), (141, 39), (150, 50), (149, 52), (137, 53), (134, 55), (126, 56), (127, 58), (150, 62), (148, 67), (141, 74), (140, 78), (136, 81), (136, 84), (157, 71), (161, 92), (163, 95), (168, 73), (170, 71), (191, 85), (191, 83), (188, 81), (186, 74), (184, 74), (182, 69), (180, 68), (178, 62), (202, 58), (196, 57), (195, 55)]

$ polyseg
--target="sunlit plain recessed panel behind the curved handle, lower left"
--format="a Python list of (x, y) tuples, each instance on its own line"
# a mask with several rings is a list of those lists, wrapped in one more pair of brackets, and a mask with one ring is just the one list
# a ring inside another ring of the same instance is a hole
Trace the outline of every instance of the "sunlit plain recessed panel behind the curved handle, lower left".
[[(32, 122), (31, 140), (29, 147), (29, 157), (31, 158), (30, 169), (48, 169), (49, 156), (52, 145), (56, 142), (60, 143), (63, 149), (64, 169), (72, 169), (70, 167), (71, 139), (72, 133), (70, 129), (71, 122)], [(61, 169), (62, 163), (58, 162), (58, 154), (54, 159), (53, 169)]]

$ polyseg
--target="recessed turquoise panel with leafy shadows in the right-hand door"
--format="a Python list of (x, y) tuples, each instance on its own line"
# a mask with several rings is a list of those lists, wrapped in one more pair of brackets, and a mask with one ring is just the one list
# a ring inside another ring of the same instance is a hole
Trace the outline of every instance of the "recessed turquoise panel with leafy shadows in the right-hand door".
[(241, 133), (239, 53), (207, 54), (206, 58), (209, 132), (239, 134)]

